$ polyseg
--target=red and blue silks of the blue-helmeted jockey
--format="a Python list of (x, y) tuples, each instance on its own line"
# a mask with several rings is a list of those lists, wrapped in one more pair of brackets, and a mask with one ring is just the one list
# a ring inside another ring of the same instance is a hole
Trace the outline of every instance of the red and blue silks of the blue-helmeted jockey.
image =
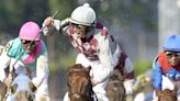
[(154, 61), (154, 88), (161, 89), (162, 75), (170, 77), (172, 80), (180, 80), (180, 63), (171, 66), (168, 63), (167, 56), (161, 52)]

